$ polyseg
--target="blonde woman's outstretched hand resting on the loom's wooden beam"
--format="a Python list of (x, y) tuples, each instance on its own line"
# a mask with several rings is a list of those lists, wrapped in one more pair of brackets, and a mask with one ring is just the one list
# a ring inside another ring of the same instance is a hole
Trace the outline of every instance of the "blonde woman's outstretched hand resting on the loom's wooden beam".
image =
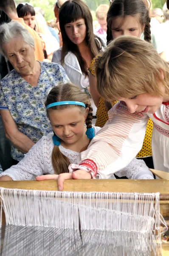
[(61, 173), (59, 175), (56, 174), (48, 174), (48, 175), (41, 175), (41, 176), (37, 176), (36, 180), (41, 181), (41, 180), (57, 180), (57, 185), (58, 185), (58, 189), (60, 191), (63, 190), (63, 183), (65, 180), (69, 180), (69, 179), (91, 179), (92, 176), (90, 174), (90, 172), (86, 172), (83, 170), (76, 170), (72, 173)]

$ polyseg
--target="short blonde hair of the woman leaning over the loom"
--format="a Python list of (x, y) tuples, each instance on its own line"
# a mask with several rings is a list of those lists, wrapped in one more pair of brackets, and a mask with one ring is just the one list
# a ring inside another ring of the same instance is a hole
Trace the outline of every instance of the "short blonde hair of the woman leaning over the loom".
[[(161, 76), (163, 72), (164, 79)], [(150, 93), (169, 95), (169, 66), (152, 44), (132, 36), (113, 40), (96, 58), (97, 90), (105, 100)]]

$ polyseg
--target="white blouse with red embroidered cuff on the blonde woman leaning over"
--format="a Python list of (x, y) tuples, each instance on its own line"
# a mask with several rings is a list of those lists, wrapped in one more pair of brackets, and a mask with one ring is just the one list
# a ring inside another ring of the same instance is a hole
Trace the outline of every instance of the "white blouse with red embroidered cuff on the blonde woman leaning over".
[(109, 120), (69, 169), (82, 169), (90, 160), (97, 172), (112, 175), (125, 168), (141, 150), (146, 124), (153, 121), (152, 156), (155, 169), (169, 172), (169, 103), (163, 102), (155, 114), (130, 113), (124, 102), (117, 102), (108, 112)]

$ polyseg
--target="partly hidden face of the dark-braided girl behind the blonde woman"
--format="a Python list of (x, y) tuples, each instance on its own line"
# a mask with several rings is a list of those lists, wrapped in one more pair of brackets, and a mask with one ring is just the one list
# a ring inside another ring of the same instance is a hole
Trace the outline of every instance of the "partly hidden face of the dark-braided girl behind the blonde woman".
[(138, 17), (115, 17), (112, 20), (113, 39), (120, 35), (132, 35), (140, 38), (143, 31), (144, 27), (141, 27)]

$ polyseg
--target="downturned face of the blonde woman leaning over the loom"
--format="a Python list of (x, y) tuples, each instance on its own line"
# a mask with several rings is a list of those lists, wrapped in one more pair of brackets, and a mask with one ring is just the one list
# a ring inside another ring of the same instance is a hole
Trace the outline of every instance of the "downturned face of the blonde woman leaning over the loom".
[(143, 93), (132, 98), (118, 98), (118, 100), (126, 103), (130, 113), (141, 112), (153, 114), (160, 108), (163, 97)]

